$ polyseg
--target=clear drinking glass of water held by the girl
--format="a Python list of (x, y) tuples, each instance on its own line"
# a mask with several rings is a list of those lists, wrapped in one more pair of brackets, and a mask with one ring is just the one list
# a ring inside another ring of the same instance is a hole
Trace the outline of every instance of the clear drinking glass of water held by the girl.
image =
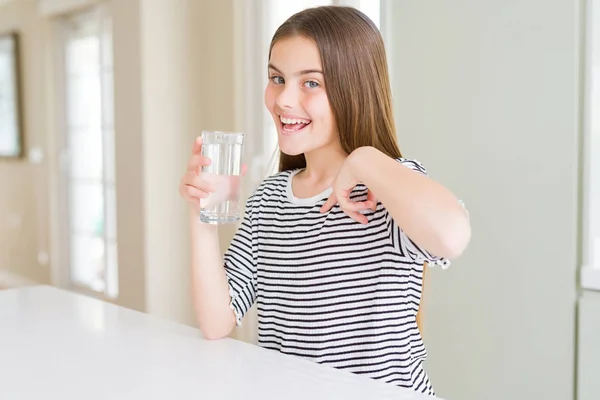
[(224, 224), (240, 219), (243, 146), (243, 133), (202, 132), (202, 155), (211, 160), (210, 165), (202, 167), (202, 175), (216, 191), (203, 199), (200, 221)]

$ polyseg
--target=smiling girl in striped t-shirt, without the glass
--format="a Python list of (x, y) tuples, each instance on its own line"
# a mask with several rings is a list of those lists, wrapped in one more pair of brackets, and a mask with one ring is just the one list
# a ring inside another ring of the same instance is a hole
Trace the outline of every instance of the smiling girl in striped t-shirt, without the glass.
[(250, 196), (224, 260), (198, 220), (213, 190), (198, 139), (180, 193), (191, 204), (194, 306), (208, 339), (258, 302), (258, 342), (433, 394), (417, 325), (425, 264), (470, 240), (456, 197), (396, 143), (382, 37), (360, 11), (318, 7), (275, 33), (265, 104), (279, 173)]

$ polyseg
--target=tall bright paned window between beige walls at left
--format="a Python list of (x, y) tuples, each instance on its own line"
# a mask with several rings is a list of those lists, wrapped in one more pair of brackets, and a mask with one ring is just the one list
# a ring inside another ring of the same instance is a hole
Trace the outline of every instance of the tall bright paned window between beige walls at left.
[(71, 286), (118, 294), (110, 19), (100, 10), (61, 21), (64, 123), (62, 230)]

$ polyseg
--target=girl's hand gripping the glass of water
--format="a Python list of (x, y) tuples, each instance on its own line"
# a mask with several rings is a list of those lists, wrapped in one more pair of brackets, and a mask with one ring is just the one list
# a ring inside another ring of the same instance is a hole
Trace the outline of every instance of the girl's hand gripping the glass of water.
[(202, 155), (202, 138), (198, 137), (192, 146), (192, 155), (188, 161), (187, 171), (179, 184), (179, 194), (196, 212), (200, 212), (201, 200), (206, 199), (210, 193), (216, 190), (215, 185), (208, 182), (202, 174), (202, 167), (210, 164), (211, 160)]

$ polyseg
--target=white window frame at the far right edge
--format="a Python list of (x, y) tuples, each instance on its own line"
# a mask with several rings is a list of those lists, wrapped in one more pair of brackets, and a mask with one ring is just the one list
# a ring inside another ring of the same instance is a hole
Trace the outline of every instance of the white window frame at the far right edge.
[(580, 278), (582, 288), (600, 290), (600, 1), (587, 0), (584, 15), (583, 266)]

